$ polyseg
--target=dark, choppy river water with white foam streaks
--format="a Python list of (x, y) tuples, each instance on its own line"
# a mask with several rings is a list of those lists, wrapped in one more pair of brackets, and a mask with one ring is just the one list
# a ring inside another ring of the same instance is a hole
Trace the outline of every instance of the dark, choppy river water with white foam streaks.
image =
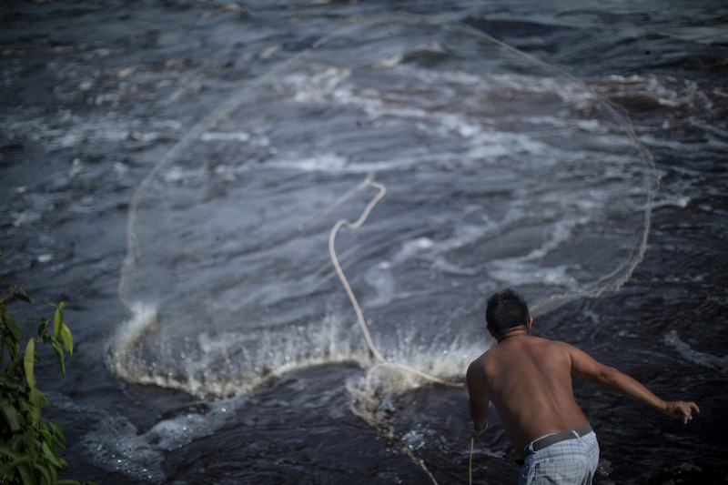
[[(0, 275), (70, 305), (64, 476), (466, 482), (512, 287), (535, 335), (701, 406), (575, 382), (597, 483), (724, 482), (724, 3), (0, 12)], [(474, 482), (515, 459), (493, 410)]]

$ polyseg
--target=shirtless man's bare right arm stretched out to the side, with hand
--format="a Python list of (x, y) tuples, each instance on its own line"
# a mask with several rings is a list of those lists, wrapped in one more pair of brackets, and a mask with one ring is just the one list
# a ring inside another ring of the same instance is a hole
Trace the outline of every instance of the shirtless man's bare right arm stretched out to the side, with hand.
[(612, 389), (622, 396), (642, 402), (654, 409), (662, 411), (672, 418), (682, 419), (687, 422), (693, 419), (693, 410), (700, 412), (698, 405), (686, 401), (665, 401), (658, 398), (645, 388), (640, 382), (632, 379), (627, 374), (592, 359), (587, 353), (570, 347), (571, 374), (583, 379), (590, 380), (605, 388)]

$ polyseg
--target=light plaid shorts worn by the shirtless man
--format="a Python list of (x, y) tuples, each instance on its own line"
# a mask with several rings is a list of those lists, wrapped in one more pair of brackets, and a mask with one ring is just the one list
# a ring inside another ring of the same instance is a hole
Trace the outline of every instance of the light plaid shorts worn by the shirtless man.
[(533, 451), (523, 461), (519, 485), (591, 484), (598, 465), (599, 443), (591, 431)]

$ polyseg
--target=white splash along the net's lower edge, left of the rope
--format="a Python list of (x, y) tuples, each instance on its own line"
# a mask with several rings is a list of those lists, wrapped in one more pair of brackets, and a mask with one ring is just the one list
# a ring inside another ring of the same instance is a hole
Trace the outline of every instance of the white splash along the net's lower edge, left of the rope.
[[(168, 361), (149, 363), (139, 356), (137, 341), (157, 322), (157, 310), (135, 307), (133, 317), (117, 329), (106, 352), (107, 367), (129, 382), (179, 389), (200, 398), (226, 397), (245, 394), (296, 369), (370, 362), (359, 332), (349, 324), (344, 328), (339, 318), (328, 317), (317, 326), (280, 332), (203, 331), (195, 338), (196, 351), (179, 351), (174, 358), (167, 357)], [(227, 357), (231, 353), (235, 360)]]

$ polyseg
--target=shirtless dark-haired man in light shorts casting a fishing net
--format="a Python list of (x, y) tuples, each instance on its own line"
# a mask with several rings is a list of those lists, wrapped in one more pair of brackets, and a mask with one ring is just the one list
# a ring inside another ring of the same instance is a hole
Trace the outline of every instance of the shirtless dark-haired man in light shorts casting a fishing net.
[(488, 299), (488, 331), (498, 345), (470, 364), (472, 438), (486, 426), (490, 401), (523, 457), (519, 483), (591, 483), (599, 444), (576, 404), (571, 376), (591, 380), (687, 424), (694, 402), (666, 402), (642, 384), (563, 342), (531, 337), (533, 318), (524, 299), (505, 289)]

